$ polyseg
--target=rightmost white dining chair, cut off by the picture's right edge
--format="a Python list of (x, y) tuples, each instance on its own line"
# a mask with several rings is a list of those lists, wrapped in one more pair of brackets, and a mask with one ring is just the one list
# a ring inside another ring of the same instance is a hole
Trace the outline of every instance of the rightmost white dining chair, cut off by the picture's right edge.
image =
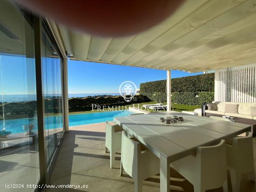
[(252, 133), (226, 141), (226, 148), (232, 191), (240, 192), (243, 173), (249, 173), (249, 178), (255, 182)]

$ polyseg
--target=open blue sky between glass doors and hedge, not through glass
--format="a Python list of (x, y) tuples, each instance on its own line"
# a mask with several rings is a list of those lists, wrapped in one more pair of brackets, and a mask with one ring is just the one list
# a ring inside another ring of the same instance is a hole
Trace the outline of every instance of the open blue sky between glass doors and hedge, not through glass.
[[(172, 71), (172, 78), (197, 75)], [(68, 60), (68, 93), (118, 93), (123, 81), (141, 83), (166, 79), (166, 71), (133, 66)]]

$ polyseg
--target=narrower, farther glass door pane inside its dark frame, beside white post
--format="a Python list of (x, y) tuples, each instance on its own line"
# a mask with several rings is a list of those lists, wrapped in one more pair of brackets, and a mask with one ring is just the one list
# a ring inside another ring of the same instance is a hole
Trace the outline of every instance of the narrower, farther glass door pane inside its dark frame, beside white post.
[(62, 59), (46, 27), (42, 32), (42, 73), (45, 97), (47, 164), (63, 133)]

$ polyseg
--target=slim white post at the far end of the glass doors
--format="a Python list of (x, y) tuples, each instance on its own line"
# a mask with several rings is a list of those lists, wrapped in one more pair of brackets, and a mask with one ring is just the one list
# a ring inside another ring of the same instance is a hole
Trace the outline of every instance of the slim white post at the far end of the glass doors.
[(67, 59), (63, 60), (63, 95), (64, 95), (65, 131), (69, 131), (69, 126), (68, 126)]

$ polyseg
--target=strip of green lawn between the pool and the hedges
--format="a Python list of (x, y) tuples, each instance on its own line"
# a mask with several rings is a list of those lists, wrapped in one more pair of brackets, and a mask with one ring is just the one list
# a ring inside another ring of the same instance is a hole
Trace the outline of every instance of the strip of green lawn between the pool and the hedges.
[[(129, 104), (129, 105), (124, 105), (124, 106), (120, 106), (120, 108), (114, 108), (115, 110), (124, 110), (124, 109), (128, 109), (130, 106), (135, 106), (135, 107), (141, 107), (144, 104), (156, 104), (157, 102), (151, 101), (151, 102), (144, 102), (144, 103), (136, 103), (136, 104)], [(163, 103), (163, 105), (166, 105), (166, 102)], [(194, 111), (197, 108), (201, 108), (201, 106), (191, 106), (191, 105), (183, 105), (183, 104), (173, 104), (172, 106), (174, 108), (174, 111), (177, 112), (182, 112), (182, 111)], [(105, 110), (108, 111), (108, 110)], [(97, 110), (92, 111), (91, 107), (87, 107), (84, 109), (73, 109), (71, 112), (69, 112), (69, 114), (79, 114), (79, 113), (95, 113), (95, 112), (100, 112)]]

